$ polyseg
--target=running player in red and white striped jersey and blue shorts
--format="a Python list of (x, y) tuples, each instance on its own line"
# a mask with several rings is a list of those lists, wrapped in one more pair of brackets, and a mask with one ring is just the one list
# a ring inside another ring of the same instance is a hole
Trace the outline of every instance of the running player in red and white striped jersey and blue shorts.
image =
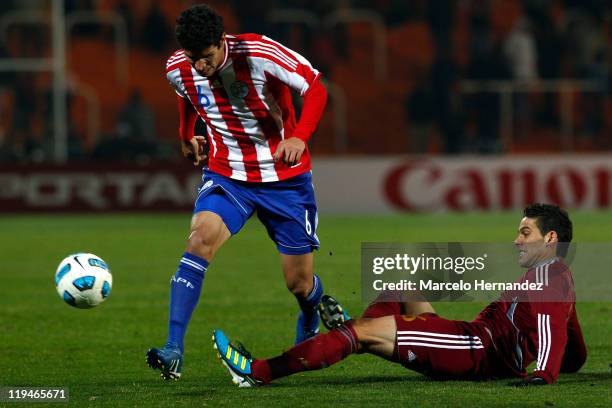
[[(222, 18), (206, 5), (181, 13), (176, 37), (182, 48), (168, 59), (166, 75), (177, 94), (181, 149), (205, 166), (187, 248), (171, 282), (167, 342), (146, 356), (167, 379), (181, 375), (185, 332), (209, 264), (255, 212), (300, 307), (296, 344), (318, 333), (323, 294), (313, 273), (319, 240), (307, 146), (327, 100), (320, 73), (263, 35), (225, 33)], [(291, 91), (303, 98), (299, 120)], [(206, 136), (194, 136), (198, 117)]]

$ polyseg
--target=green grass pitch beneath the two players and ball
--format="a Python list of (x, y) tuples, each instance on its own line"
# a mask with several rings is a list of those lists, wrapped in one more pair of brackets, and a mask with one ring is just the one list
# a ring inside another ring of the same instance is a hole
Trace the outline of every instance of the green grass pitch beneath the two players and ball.
[[(574, 213), (576, 241), (609, 242), (611, 216)], [(326, 292), (357, 313), (364, 306), (361, 241), (503, 242), (514, 238), (519, 218), (518, 212), (321, 217), (316, 271)], [(435, 382), (359, 355), (272, 386), (236, 388), (213, 352), (212, 330), (220, 327), (267, 357), (292, 343), (297, 314), (275, 248), (256, 220), (211, 264), (187, 333), (183, 378), (164, 382), (144, 354), (165, 340), (169, 280), (188, 222), (188, 214), (0, 217), (0, 386), (67, 386), (75, 406), (612, 406), (611, 303), (578, 304), (588, 361), (549, 387)], [(98, 308), (71, 308), (55, 292), (57, 264), (77, 251), (103, 257), (112, 269), (111, 296)], [(471, 319), (481, 307), (436, 305), (456, 319)]]

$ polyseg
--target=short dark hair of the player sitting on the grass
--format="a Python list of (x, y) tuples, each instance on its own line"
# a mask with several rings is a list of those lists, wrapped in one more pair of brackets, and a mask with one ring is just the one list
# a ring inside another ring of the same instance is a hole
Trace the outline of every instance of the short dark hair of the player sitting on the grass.
[(535, 203), (528, 205), (523, 211), (527, 218), (535, 218), (536, 225), (542, 235), (555, 231), (559, 243), (557, 245), (557, 255), (567, 255), (569, 243), (572, 242), (572, 221), (569, 219), (567, 211), (553, 204)]

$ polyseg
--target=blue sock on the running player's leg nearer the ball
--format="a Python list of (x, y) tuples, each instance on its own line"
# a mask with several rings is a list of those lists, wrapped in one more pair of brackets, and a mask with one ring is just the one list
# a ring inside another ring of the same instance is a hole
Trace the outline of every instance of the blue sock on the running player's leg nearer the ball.
[(170, 282), (170, 323), (167, 345), (177, 345), (184, 351), (185, 332), (191, 314), (200, 299), (202, 281), (208, 269), (208, 261), (185, 252), (178, 271)]

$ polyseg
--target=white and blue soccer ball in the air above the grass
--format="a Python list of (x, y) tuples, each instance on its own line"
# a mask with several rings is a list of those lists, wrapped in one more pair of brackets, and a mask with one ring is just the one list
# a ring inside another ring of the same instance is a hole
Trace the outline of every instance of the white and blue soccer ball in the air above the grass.
[(55, 288), (64, 302), (80, 309), (89, 309), (104, 302), (110, 295), (113, 275), (106, 262), (88, 253), (64, 258), (55, 272)]

